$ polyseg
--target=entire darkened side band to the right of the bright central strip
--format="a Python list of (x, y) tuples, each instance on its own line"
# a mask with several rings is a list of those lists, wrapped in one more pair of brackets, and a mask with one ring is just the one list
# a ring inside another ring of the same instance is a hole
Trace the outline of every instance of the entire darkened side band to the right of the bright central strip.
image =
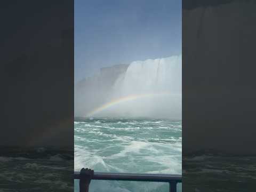
[(185, 191), (255, 190), (247, 172), (256, 153), (255, 6), (238, 0), (182, 3)]

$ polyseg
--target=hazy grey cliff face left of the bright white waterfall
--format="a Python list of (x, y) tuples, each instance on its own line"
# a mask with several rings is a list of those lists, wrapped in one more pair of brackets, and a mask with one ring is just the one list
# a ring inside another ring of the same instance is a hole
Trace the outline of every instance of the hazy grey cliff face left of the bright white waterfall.
[(121, 64), (101, 68), (99, 74), (78, 82), (75, 85), (75, 116), (84, 116), (99, 104), (105, 103), (110, 97), (116, 79), (125, 73), (128, 66)]

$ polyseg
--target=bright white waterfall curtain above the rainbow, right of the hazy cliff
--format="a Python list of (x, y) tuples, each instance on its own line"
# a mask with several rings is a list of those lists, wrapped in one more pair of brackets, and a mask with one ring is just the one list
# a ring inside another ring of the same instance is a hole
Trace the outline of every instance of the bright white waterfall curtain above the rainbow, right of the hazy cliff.
[(181, 55), (134, 61), (127, 68), (122, 94), (181, 93)]

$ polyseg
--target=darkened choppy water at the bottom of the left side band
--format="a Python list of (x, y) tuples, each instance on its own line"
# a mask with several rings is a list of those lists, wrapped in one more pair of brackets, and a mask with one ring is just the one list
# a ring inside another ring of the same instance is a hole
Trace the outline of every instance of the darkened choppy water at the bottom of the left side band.
[(74, 191), (73, 150), (0, 149), (0, 191)]

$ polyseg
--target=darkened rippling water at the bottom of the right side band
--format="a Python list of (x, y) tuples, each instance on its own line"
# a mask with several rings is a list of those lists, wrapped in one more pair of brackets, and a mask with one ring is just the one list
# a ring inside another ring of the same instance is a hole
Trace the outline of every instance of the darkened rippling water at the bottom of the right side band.
[(255, 191), (256, 156), (234, 156), (202, 151), (182, 157), (185, 191)]

